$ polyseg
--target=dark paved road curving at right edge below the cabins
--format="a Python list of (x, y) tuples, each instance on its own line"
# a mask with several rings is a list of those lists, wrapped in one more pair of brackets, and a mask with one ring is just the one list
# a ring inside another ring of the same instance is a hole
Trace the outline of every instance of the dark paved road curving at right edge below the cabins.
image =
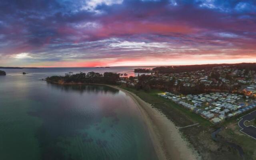
[(256, 140), (256, 127), (254, 126), (246, 126), (244, 125), (244, 122), (246, 120), (251, 121), (256, 118), (256, 110), (254, 112), (251, 112), (249, 114), (246, 114), (245, 116), (242, 116), (242, 119), (238, 122), (238, 126), (242, 128), (240, 131), (244, 134), (254, 138)]

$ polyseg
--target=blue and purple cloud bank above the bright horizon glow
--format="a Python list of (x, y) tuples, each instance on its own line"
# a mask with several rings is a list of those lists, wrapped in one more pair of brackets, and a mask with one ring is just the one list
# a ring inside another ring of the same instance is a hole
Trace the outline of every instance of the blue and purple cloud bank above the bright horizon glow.
[(118, 41), (256, 49), (255, 0), (0, 0), (0, 15), (1, 55), (129, 56)]

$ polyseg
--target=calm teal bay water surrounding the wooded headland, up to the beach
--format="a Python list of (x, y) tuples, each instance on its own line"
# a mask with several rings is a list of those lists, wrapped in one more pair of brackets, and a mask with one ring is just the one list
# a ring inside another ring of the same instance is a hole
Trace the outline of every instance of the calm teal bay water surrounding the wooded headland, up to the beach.
[(40, 80), (66, 72), (129, 73), (133, 68), (2, 70), (7, 76), (0, 76), (1, 160), (156, 159), (140, 112), (124, 92)]

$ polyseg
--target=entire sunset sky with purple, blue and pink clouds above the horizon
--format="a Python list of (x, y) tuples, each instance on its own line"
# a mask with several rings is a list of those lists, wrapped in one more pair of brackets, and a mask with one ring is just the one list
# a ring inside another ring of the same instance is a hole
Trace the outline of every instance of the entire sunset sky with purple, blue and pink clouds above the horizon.
[(0, 66), (256, 62), (256, 0), (0, 0)]

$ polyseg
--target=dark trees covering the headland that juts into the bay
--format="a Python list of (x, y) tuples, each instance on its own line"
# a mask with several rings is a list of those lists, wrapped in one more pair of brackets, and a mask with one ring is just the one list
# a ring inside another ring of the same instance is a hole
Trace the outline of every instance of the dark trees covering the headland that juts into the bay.
[(51, 76), (47, 77), (46, 81), (58, 84), (72, 84), (72, 83), (101, 83), (101, 84), (116, 84), (120, 80), (120, 75), (112, 72), (105, 72), (103, 75), (96, 72), (78, 73), (66, 76)]

